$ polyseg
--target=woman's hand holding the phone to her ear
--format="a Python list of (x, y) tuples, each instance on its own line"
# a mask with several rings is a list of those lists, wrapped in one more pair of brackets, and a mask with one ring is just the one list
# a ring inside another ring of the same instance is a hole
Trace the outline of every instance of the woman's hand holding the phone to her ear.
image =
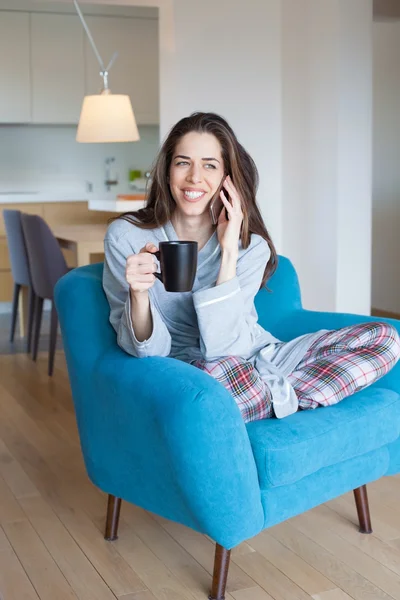
[[(237, 252), (240, 228), (243, 221), (242, 203), (239, 193), (229, 175), (226, 177), (223, 187), (224, 189), (221, 190), (220, 196), (226, 210), (222, 209), (219, 215), (217, 225), (218, 241), (222, 250)], [(226, 218), (226, 213), (228, 213), (228, 219)]]

